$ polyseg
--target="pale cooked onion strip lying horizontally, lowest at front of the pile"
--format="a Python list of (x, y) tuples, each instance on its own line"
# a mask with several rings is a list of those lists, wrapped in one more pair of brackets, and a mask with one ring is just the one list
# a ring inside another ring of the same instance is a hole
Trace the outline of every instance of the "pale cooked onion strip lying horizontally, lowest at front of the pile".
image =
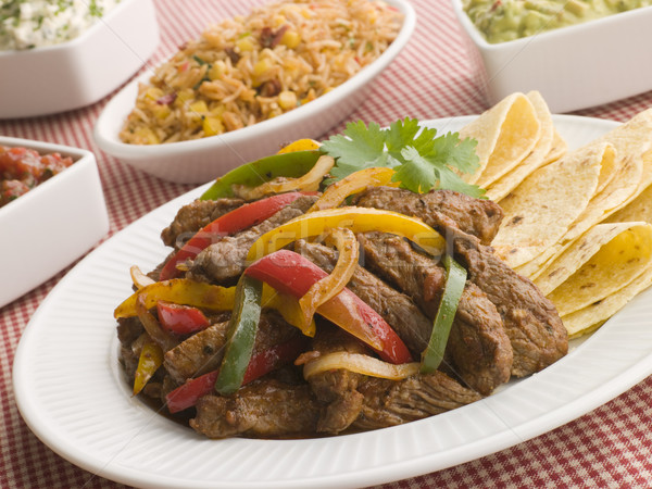
[[(301, 360), (294, 362), (294, 364), (300, 365)], [(303, 378), (308, 380), (313, 375), (322, 372), (335, 371), (337, 368), (344, 368), (350, 372), (369, 375), (372, 377), (401, 380), (418, 374), (419, 363), (410, 362), (394, 365), (393, 363), (383, 362), (381, 360), (362, 353), (338, 351), (317, 356), (316, 359), (306, 362), (303, 366)]]

